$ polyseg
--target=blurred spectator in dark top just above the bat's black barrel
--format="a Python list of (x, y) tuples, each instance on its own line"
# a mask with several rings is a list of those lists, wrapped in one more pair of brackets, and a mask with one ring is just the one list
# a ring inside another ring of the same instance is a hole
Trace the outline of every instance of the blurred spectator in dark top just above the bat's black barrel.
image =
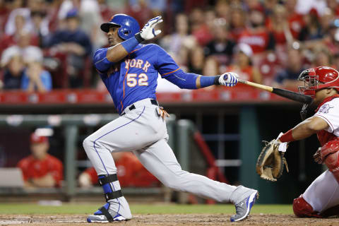
[(287, 65), (275, 75), (273, 86), (296, 90), (298, 85), (303, 84), (297, 81), (297, 78), (306, 68), (302, 64), (303, 57), (300, 49), (290, 47), (287, 56)]

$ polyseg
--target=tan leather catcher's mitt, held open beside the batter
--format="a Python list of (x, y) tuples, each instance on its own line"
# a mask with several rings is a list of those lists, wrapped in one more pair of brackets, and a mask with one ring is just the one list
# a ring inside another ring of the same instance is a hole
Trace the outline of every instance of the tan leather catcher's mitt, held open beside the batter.
[(284, 157), (285, 153), (278, 150), (280, 142), (275, 140), (263, 142), (265, 147), (261, 150), (256, 162), (256, 172), (262, 179), (276, 182), (277, 178), (283, 174), (284, 165), (288, 172), (287, 162)]

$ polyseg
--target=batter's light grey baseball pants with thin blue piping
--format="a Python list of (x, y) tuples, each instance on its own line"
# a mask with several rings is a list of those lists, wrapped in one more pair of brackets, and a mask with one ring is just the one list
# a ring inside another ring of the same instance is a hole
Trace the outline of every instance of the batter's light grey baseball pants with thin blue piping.
[[(230, 186), (182, 170), (167, 144), (166, 123), (156, 113), (157, 106), (151, 105), (150, 99), (134, 105), (136, 109), (129, 111), (126, 107), (126, 114), (102, 126), (83, 141), (85, 152), (98, 175), (117, 173), (111, 152), (133, 151), (148, 171), (172, 189), (225, 203), (238, 203), (253, 193), (244, 186)], [(119, 182), (114, 182), (114, 187), (119, 188)], [(111, 208), (125, 218), (131, 214), (124, 197), (111, 203)]]

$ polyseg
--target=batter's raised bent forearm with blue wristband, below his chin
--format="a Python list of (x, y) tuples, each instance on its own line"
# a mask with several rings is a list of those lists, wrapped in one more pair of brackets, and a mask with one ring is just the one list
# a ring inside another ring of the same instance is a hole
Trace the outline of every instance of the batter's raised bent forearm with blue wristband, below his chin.
[(121, 61), (141, 42), (143, 42), (143, 39), (137, 34), (129, 40), (114, 45), (114, 47), (109, 47), (106, 58), (113, 63)]

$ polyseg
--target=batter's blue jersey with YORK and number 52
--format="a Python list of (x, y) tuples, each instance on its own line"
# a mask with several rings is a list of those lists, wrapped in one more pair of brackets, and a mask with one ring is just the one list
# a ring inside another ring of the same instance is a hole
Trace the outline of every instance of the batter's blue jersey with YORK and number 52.
[[(108, 61), (106, 54), (107, 48), (97, 49), (93, 61), (119, 114), (125, 107), (138, 100), (156, 99), (158, 73), (162, 78), (167, 78), (177, 85), (177, 81), (179, 83), (186, 81), (184, 77), (180, 77), (186, 73), (157, 44), (138, 44), (124, 60), (118, 63)], [(177, 76), (174, 73), (177, 73)], [(171, 76), (172, 79), (169, 78)]]

